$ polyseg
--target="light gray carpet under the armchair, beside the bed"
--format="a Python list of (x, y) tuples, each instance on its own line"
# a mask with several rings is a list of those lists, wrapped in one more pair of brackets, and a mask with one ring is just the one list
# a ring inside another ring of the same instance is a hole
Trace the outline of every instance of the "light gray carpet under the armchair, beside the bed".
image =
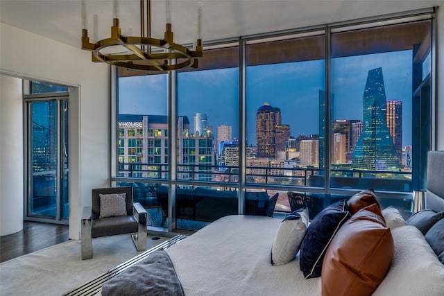
[[(151, 240), (147, 247), (169, 238)], [(80, 260), (80, 241), (67, 241), (0, 263), (0, 295), (62, 295), (137, 256), (129, 235), (94, 238), (93, 258)]]

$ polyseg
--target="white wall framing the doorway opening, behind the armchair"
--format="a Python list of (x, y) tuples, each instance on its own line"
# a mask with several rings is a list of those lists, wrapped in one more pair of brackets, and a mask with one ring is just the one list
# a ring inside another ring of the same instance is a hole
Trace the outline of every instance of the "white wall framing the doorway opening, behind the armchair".
[[(80, 209), (91, 204), (91, 189), (110, 183), (109, 72), (108, 65), (92, 63), (91, 53), (80, 49), (80, 37), (76, 48), (0, 23), (0, 73), (73, 87), (69, 237), (74, 239), (80, 238)], [(3, 120), (3, 114), (1, 117)], [(0, 131), (3, 139), (3, 128)], [(22, 137), (22, 130), (19, 133)], [(8, 157), (4, 145), (0, 149), (1, 159)], [(12, 166), (8, 171), (23, 175), (23, 166)], [(2, 188), (5, 182), (2, 174)], [(22, 180), (12, 182), (23, 186)], [(6, 199), (3, 190), (0, 194), (0, 200)]]

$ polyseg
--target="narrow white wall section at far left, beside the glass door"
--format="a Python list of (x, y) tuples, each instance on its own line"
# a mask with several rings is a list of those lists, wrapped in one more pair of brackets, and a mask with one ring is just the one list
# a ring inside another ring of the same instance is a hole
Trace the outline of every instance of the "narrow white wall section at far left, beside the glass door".
[(23, 228), (22, 101), (22, 79), (0, 75), (0, 236)]

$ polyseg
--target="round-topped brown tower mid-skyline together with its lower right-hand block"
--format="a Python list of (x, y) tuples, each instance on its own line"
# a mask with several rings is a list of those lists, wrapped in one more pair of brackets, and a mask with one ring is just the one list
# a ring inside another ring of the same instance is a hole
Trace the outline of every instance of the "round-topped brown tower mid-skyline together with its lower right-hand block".
[[(289, 125), (281, 124), (279, 108), (271, 107), (268, 103), (259, 107), (256, 113), (257, 157), (276, 157), (277, 131), (279, 134), (278, 149), (285, 150), (285, 141), (289, 139), (289, 129)], [(285, 137), (287, 138), (284, 139)]]

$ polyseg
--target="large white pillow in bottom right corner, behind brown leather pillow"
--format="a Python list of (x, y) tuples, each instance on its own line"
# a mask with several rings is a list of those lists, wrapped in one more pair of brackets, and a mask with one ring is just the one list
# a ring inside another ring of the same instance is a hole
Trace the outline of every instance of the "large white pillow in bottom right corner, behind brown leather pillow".
[(443, 296), (444, 265), (414, 226), (391, 230), (395, 254), (373, 296)]

